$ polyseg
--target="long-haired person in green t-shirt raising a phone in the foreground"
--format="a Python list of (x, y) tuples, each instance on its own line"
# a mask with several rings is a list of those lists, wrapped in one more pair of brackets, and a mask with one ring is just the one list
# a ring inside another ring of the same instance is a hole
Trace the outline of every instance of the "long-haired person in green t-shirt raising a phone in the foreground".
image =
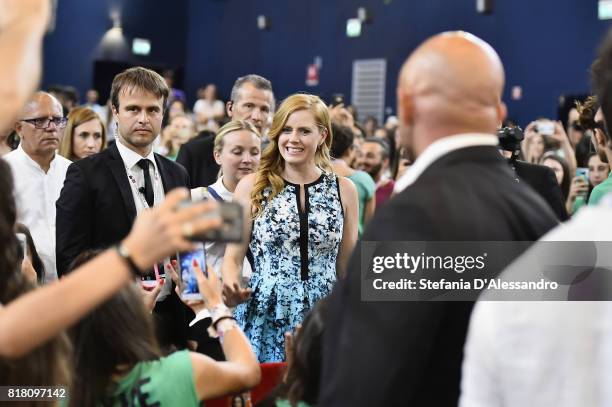
[[(77, 266), (92, 256), (85, 252)], [(69, 406), (200, 406), (202, 400), (235, 394), (260, 381), (257, 358), (222, 300), (217, 274), (194, 264), (197, 284), (212, 317), (209, 333), (218, 337), (226, 360), (187, 350), (162, 356), (150, 311), (137, 287), (127, 285), (83, 318), (70, 336), (76, 349)], [(190, 304), (195, 306), (195, 304)], [(144, 404), (143, 404), (144, 405)]]

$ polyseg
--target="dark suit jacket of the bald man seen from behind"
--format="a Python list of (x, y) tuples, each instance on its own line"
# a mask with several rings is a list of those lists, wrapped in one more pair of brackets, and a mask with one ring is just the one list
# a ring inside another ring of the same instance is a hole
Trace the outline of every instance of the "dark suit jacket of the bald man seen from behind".
[[(366, 241), (536, 240), (557, 224), (495, 147), (453, 151), (377, 211)], [(360, 248), (330, 297), (319, 406), (457, 406), (472, 302), (364, 302)]]

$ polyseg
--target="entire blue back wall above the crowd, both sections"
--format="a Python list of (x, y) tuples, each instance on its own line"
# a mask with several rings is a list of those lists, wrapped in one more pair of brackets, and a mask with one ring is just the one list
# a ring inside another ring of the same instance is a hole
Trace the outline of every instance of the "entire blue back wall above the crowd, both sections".
[[(597, 19), (597, 0), (496, 0), (492, 16), (478, 15), (475, 0), (59, 0), (57, 28), (45, 40), (44, 85), (71, 84), (82, 95), (91, 86), (113, 5), (130, 41), (152, 42), (150, 56), (130, 62), (185, 67), (192, 101), (208, 82), (227, 97), (236, 77), (251, 72), (272, 80), (279, 99), (296, 91), (350, 96), (353, 60), (386, 58), (386, 104), (395, 110), (396, 77), (408, 54), (435, 33), (467, 30), (501, 55), (505, 100), (520, 123), (555, 117), (560, 95), (588, 92), (588, 68), (609, 27)], [(373, 24), (347, 38), (346, 19), (359, 6), (372, 11)], [(259, 14), (270, 18), (270, 31), (257, 29)], [(316, 56), (323, 59), (320, 84), (308, 88), (306, 65)], [(520, 101), (508, 98), (515, 85), (523, 87)]]

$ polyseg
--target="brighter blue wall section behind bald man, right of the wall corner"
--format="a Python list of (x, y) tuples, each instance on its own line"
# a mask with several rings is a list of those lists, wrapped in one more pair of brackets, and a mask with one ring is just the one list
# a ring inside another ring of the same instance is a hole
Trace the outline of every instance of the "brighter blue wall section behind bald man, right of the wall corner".
[[(556, 117), (558, 97), (586, 93), (588, 68), (609, 23), (597, 19), (597, 0), (496, 0), (482, 16), (475, 0), (238, 0), (189, 1), (187, 89), (215, 82), (227, 96), (234, 79), (255, 72), (268, 77), (278, 98), (300, 90), (328, 97), (350, 95), (352, 61), (387, 59), (386, 103), (395, 110), (396, 77), (409, 53), (446, 30), (470, 31), (495, 47), (506, 67), (505, 100), (520, 123)], [(373, 24), (347, 38), (346, 19), (368, 7)], [(267, 15), (270, 31), (256, 16)], [(320, 84), (305, 86), (306, 65), (323, 58)], [(512, 86), (520, 101), (509, 100)]]

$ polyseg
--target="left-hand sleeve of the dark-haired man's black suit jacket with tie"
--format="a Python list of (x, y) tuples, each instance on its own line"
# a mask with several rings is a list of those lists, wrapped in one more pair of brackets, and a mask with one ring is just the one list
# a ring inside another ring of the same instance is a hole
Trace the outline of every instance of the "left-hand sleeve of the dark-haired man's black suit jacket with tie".
[(83, 250), (91, 247), (91, 197), (83, 170), (71, 164), (56, 204), (55, 253), (57, 274), (66, 274), (68, 266)]

